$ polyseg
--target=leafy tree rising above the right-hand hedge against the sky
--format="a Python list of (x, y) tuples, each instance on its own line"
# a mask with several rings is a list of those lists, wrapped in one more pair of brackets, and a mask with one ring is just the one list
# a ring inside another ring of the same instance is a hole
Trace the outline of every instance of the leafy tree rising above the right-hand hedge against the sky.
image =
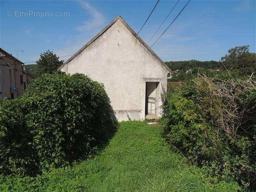
[(240, 75), (250, 75), (256, 71), (256, 53), (249, 52), (249, 45), (236, 46), (221, 58), (222, 69), (239, 70)]

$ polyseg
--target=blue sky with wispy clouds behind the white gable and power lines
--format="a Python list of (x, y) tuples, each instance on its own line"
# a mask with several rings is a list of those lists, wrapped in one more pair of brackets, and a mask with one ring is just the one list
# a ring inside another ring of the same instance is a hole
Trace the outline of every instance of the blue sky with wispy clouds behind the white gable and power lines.
[[(180, 0), (150, 46), (186, 2)], [(139, 34), (145, 42), (175, 3), (176, 0), (160, 0)], [(156, 0), (1, 0), (0, 47), (14, 56), (14, 50), (23, 50), (18, 52), (23, 62), (36, 61), (48, 49), (58, 56), (74, 54), (117, 15), (138, 32), (155, 4)], [(41, 13), (45, 16), (41, 17)], [(250, 45), (250, 52), (256, 52), (255, 0), (192, 0), (152, 49), (164, 61), (204, 61), (220, 60), (228, 49), (242, 45)]]

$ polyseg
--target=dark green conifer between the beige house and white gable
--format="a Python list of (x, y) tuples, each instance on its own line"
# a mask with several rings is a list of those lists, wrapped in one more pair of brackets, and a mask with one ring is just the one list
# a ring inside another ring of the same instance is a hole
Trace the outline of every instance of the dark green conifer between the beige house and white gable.
[(52, 74), (62, 64), (63, 60), (59, 61), (59, 57), (56, 56), (52, 51), (47, 50), (40, 54), (40, 59), (36, 62), (38, 75), (43, 73)]

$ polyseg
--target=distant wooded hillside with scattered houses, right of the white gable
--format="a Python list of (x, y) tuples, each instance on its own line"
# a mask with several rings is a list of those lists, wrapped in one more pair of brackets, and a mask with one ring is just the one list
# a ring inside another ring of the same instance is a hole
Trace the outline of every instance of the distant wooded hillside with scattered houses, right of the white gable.
[(218, 61), (198, 61), (198, 60), (189, 60), (189, 61), (168, 61), (165, 62), (168, 67), (175, 70), (186, 71), (189, 69), (195, 68), (204, 68), (204, 69), (218, 69), (221, 66), (221, 62)]

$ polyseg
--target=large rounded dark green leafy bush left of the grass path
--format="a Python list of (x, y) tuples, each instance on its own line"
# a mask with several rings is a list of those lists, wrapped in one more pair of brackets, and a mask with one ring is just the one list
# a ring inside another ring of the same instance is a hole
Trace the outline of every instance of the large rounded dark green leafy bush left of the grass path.
[(115, 132), (104, 86), (82, 74), (43, 74), (0, 105), (0, 173), (37, 174), (90, 156)]

